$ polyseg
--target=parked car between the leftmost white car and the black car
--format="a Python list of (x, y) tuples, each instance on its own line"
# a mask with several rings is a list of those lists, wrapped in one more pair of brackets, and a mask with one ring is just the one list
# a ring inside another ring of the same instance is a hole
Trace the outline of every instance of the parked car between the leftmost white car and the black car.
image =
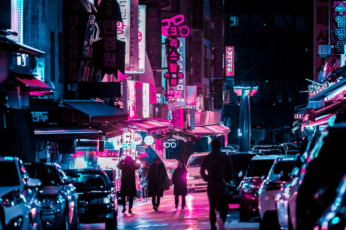
[(29, 177), (42, 181), (38, 197), (42, 203), (43, 229), (79, 229), (78, 194), (73, 178), (57, 163), (25, 163)]

